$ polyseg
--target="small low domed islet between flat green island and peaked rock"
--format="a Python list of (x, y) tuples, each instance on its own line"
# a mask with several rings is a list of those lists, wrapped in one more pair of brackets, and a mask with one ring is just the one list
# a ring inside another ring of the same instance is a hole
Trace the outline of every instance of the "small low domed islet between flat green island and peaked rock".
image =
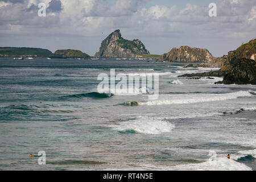
[(84, 52), (81, 52), (79, 50), (73, 50), (73, 49), (62, 49), (57, 50), (55, 53), (52, 53), (49, 55), (50, 58), (56, 58), (56, 59), (66, 59), (66, 58), (82, 58), (82, 59), (89, 59), (90, 56)]

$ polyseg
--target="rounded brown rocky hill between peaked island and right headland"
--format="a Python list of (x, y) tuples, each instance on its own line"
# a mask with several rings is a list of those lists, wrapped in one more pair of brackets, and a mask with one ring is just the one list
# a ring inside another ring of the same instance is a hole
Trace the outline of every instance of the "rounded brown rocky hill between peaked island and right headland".
[(208, 63), (212, 60), (213, 56), (207, 49), (181, 46), (179, 49), (172, 48), (170, 52), (164, 53), (158, 61)]

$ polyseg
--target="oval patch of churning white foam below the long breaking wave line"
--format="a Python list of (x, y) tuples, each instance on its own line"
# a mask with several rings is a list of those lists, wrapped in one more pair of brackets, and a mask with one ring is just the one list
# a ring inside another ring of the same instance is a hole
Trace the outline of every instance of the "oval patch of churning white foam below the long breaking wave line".
[(134, 130), (144, 134), (161, 134), (171, 132), (175, 126), (159, 118), (138, 117), (130, 121), (119, 122), (117, 125), (110, 127), (118, 131)]

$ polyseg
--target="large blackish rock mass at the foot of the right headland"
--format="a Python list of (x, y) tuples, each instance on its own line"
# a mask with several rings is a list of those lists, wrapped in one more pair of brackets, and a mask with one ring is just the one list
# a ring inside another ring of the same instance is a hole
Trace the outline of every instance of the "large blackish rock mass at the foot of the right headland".
[(256, 85), (256, 62), (252, 59), (233, 58), (229, 62), (229, 72), (223, 81), (218, 81), (216, 84)]

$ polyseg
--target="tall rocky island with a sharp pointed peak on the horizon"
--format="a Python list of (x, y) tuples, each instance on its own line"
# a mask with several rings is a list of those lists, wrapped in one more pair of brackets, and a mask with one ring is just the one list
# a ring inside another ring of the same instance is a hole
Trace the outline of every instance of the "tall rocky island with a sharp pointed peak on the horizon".
[(120, 30), (115, 30), (102, 41), (100, 51), (95, 58), (133, 58), (138, 55), (150, 55), (141, 40), (126, 40)]

